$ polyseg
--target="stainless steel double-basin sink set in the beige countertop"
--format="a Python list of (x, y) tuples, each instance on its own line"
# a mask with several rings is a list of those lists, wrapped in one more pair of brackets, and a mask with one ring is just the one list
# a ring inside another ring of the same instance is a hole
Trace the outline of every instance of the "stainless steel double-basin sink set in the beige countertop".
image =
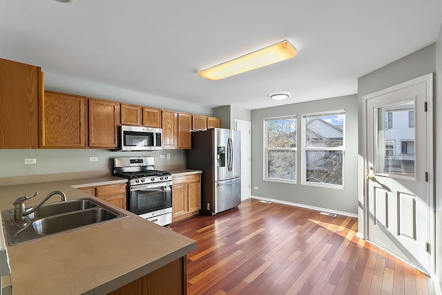
[[(32, 207), (26, 208), (26, 211), (31, 209)], [(99, 225), (102, 222), (124, 216), (126, 214), (114, 210), (93, 198), (41, 205), (35, 212), (26, 216), (27, 222), (24, 227), (15, 225), (14, 209), (3, 211), (3, 220), (10, 246), (66, 231)]]

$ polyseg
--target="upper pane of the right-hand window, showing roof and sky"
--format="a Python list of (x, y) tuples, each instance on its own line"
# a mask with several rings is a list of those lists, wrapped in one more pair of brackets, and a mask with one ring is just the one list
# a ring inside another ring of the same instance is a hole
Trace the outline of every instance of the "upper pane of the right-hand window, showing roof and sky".
[(344, 120), (343, 113), (306, 117), (307, 147), (343, 146)]

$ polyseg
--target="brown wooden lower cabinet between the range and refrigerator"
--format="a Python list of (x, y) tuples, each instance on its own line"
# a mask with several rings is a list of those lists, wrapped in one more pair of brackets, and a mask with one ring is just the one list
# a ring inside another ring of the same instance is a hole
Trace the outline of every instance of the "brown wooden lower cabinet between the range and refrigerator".
[(201, 174), (172, 177), (172, 220), (196, 215), (201, 209)]

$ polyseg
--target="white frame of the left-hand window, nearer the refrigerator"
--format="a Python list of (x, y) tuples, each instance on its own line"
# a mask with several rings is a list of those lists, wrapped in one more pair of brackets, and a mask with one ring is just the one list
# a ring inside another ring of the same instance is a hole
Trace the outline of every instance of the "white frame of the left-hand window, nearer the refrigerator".
[[(268, 147), (268, 129), (267, 129), (267, 122), (269, 120), (278, 120), (278, 119), (294, 119), (296, 120), (296, 147), (293, 148), (269, 148)], [(262, 179), (264, 181), (271, 181), (271, 182), (283, 182), (283, 183), (289, 183), (289, 184), (296, 184), (298, 183), (298, 115), (281, 115), (277, 117), (265, 117), (264, 120), (264, 165), (263, 165), (263, 171), (262, 171)], [(294, 151), (295, 152), (295, 163), (294, 163), (294, 171), (295, 171), (295, 179), (294, 180), (288, 180), (283, 178), (269, 178), (268, 177), (268, 171), (269, 171), (269, 153), (268, 151)]]

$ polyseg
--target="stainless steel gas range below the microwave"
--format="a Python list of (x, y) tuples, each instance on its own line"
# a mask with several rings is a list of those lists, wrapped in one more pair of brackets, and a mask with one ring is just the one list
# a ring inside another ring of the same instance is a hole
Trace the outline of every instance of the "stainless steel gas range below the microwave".
[(172, 175), (155, 170), (153, 157), (114, 158), (113, 175), (127, 178), (127, 209), (158, 225), (172, 222)]

